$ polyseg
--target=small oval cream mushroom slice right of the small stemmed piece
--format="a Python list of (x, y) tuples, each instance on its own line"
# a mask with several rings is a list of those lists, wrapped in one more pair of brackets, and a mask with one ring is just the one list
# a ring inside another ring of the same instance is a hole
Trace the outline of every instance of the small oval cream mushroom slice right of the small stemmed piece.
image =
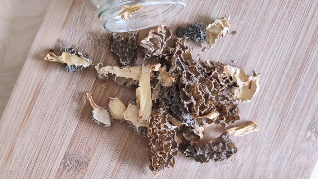
[(116, 120), (122, 120), (124, 118), (124, 112), (127, 110), (125, 104), (121, 102), (118, 97), (109, 98), (109, 103), (108, 103), (108, 109), (109, 112), (112, 114), (113, 118)]

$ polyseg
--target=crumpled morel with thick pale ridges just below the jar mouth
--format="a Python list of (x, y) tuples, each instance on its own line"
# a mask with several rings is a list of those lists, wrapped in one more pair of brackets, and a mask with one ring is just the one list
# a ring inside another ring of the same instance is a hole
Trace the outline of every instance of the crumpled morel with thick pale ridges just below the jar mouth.
[(172, 32), (165, 25), (151, 30), (148, 36), (140, 42), (140, 46), (142, 47), (142, 54), (145, 55), (145, 58), (160, 56), (171, 37)]

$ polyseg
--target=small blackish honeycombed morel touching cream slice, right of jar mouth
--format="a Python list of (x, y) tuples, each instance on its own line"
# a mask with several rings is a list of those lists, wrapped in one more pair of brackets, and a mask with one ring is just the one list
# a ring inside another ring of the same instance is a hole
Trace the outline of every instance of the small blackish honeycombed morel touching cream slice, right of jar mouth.
[(186, 27), (178, 27), (176, 34), (178, 37), (188, 37), (194, 42), (204, 41), (206, 39), (206, 25), (203, 23), (190, 24)]

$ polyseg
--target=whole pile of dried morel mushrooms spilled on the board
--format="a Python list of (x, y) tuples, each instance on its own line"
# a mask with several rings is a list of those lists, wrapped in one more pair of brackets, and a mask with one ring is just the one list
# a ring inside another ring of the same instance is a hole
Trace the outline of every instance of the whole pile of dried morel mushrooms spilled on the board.
[[(138, 32), (109, 36), (111, 52), (121, 67), (103, 67), (99, 63), (95, 66), (97, 78), (135, 88), (136, 100), (126, 106), (117, 97), (109, 98), (108, 107), (100, 107), (93, 102), (91, 93), (86, 93), (93, 107), (91, 120), (107, 128), (116, 120), (126, 122), (137, 135), (147, 138), (149, 168), (155, 175), (173, 167), (179, 153), (201, 163), (228, 159), (238, 150), (230, 135), (259, 131), (253, 122), (229, 128), (240, 120), (239, 104), (250, 102), (258, 92), (259, 74), (248, 75), (216, 61), (194, 59), (191, 48), (185, 45), (189, 36), (194, 41), (206, 39), (213, 47), (228, 33), (228, 19), (178, 28), (179, 38), (170, 47), (166, 46), (173, 33), (167, 26), (151, 30), (140, 44)], [(139, 46), (145, 59), (155, 58), (158, 63), (129, 66), (137, 59)], [(59, 61), (69, 72), (92, 64), (87, 55), (73, 49), (65, 49), (61, 56), (50, 52), (45, 60)], [(202, 143), (203, 131), (209, 125), (221, 125), (225, 132)]]

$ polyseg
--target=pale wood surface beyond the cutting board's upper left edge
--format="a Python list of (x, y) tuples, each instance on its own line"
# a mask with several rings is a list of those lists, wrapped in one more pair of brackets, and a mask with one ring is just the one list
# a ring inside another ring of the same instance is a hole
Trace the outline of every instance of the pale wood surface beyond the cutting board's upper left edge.
[(51, 0), (0, 1), (0, 116)]

